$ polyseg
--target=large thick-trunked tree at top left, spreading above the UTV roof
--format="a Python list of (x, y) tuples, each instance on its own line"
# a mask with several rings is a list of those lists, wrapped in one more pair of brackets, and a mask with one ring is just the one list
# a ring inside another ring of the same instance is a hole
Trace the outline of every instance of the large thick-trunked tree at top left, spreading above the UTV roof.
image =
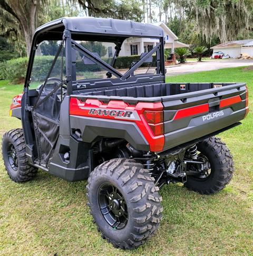
[[(51, 8), (52, 5), (60, 8)], [(137, 0), (23, 0), (22, 3), (18, 0), (0, 0), (0, 24), (3, 24), (0, 29), (8, 39), (14, 36), (15, 40), (24, 40), (28, 56), (35, 28), (48, 21), (45, 17), (76, 15), (74, 11), (77, 5), (82, 6), (88, 16), (142, 20), (143, 11)]]

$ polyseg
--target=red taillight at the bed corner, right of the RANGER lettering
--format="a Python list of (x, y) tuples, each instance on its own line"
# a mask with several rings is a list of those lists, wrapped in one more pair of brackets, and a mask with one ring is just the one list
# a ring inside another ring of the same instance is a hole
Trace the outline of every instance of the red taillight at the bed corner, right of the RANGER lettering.
[(154, 136), (159, 136), (164, 133), (163, 111), (144, 111), (143, 115)]

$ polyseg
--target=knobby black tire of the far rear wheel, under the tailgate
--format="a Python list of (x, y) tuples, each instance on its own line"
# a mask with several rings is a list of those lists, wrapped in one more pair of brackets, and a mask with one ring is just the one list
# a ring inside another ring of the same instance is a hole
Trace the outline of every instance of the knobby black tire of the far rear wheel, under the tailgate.
[(226, 144), (216, 137), (198, 143), (197, 148), (211, 164), (210, 175), (206, 178), (187, 176), (184, 186), (200, 194), (217, 193), (225, 188), (233, 176), (234, 164), (230, 151)]

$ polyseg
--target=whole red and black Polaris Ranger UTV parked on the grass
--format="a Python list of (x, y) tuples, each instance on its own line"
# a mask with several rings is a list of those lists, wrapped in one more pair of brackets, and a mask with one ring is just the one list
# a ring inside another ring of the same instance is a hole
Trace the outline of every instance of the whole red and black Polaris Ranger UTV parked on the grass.
[(41, 26), (11, 105), (23, 128), (3, 136), (13, 181), (38, 168), (88, 179), (94, 223), (123, 249), (157, 230), (164, 184), (200, 194), (228, 184), (232, 156), (215, 135), (248, 113), (244, 83), (166, 83), (164, 42), (161, 28), (132, 21), (64, 17)]

